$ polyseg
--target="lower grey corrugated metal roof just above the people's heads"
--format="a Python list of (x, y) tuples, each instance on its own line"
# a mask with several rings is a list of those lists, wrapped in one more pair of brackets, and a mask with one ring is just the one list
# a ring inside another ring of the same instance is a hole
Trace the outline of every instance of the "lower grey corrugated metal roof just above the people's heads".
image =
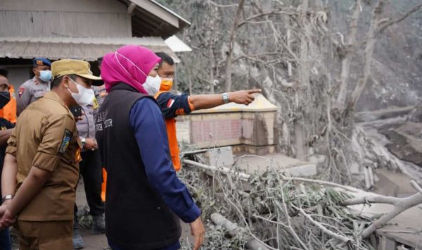
[(161, 37), (0, 37), (0, 57), (44, 56), (51, 60), (80, 58), (96, 61), (98, 57), (127, 44), (146, 46), (155, 52), (163, 51), (180, 61)]

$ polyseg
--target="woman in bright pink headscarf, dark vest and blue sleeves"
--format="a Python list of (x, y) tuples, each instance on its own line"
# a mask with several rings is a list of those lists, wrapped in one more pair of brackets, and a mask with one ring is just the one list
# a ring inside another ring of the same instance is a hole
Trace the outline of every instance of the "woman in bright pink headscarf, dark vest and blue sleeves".
[(141, 46), (106, 54), (101, 77), (109, 92), (96, 118), (107, 169), (106, 236), (113, 250), (179, 249), (179, 218), (203, 243), (200, 209), (177, 177), (160, 107), (160, 58)]

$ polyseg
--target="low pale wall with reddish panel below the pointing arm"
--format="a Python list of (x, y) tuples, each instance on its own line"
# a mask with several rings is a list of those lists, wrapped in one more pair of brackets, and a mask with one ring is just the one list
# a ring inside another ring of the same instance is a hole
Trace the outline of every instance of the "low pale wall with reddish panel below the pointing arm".
[(177, 118), (177, 139), (198, 148), (234, 146), (253, 154), (274, 152), (276, 111), (193, 113)]

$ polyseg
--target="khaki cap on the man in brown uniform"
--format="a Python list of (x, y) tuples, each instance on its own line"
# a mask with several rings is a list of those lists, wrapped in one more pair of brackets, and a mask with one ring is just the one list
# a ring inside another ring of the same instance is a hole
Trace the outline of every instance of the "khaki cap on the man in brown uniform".
[(62, 59), (51, 63), (51, 75), (53, 79), (63, 75), (77, 75), (93, 80), (92, 85), (101, 86), (101, 77), (92, 75), (91, 65), (87, 61), (77, 59)]

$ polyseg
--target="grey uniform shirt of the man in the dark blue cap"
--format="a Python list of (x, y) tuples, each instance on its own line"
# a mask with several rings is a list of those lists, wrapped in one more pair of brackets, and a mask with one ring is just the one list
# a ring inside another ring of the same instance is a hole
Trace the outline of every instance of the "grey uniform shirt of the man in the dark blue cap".
[(18, 115), (34, 101), (40, 99), (46, 92), (50, 91), (51, 82), (39, 82), (37, 77), (27, 80), (19, 87), (16, 106)]

